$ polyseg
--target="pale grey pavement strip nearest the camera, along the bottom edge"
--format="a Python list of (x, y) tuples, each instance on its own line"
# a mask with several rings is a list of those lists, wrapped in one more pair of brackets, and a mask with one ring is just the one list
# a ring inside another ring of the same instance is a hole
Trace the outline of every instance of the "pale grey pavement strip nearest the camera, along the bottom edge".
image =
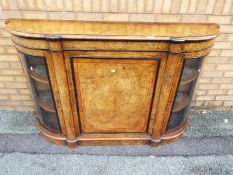
[(233, 156), (129, 157), (5, 154), (1, 175), (232, 175)]

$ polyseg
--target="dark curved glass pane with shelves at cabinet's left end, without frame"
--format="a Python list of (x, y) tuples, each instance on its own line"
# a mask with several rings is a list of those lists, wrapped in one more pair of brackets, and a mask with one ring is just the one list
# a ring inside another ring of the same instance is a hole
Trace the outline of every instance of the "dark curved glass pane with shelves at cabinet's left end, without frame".
[(51, 133), (61, 134), (46, 58), (24, 53), (20, 55), (33, 91), (39, 126)]

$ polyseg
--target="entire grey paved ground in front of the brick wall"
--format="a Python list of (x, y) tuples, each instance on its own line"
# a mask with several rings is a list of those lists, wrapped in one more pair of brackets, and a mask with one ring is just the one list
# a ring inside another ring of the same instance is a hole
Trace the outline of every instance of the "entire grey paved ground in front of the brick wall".
[(0, 111), (0, 175), (233, 174), (233, 113), (193, 112), (176, 143), (158, 148), (46, 142), (30, 112)]

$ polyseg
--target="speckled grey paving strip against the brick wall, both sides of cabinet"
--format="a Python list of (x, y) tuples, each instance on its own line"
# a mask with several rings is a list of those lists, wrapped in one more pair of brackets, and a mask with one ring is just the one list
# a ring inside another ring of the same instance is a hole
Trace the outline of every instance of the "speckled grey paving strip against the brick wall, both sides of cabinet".
[[(36, 134), (38, 132), (31, 112), (1, 111), (0, 133)], [(184, 136), (233, 136), (233, 112), (192, 112)]]

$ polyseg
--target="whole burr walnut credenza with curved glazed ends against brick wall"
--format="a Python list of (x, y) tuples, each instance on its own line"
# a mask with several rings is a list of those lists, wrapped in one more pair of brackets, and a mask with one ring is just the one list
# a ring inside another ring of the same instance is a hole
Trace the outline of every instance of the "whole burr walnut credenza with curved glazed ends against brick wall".
[(177, 140), (216, 24), (10, 19), (41, 134), (77, 145)]

